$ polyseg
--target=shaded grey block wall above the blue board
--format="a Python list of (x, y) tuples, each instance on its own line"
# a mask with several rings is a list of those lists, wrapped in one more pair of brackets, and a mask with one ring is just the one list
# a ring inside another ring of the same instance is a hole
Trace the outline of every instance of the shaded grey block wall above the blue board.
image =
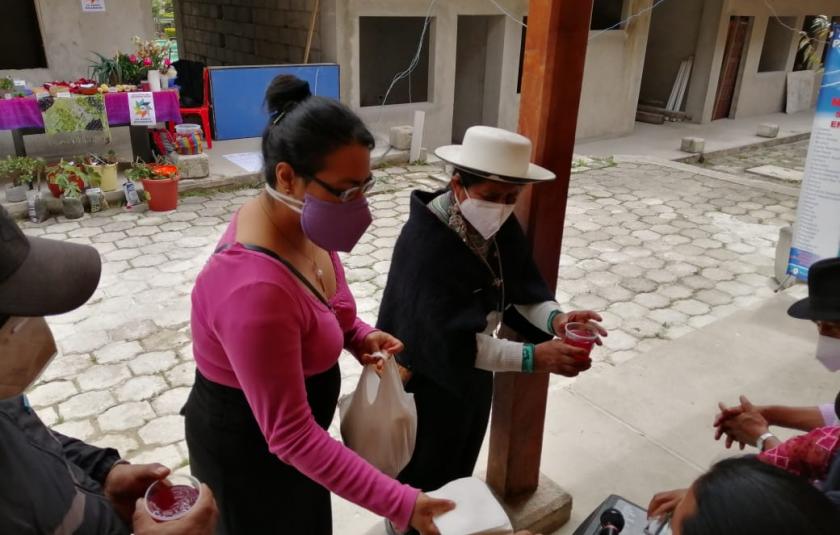
[[(314, 0), (175, 0), (179, 54), (207, 65), (301, 63)], [(309, 62), (321, 61), (319, 24)]]

